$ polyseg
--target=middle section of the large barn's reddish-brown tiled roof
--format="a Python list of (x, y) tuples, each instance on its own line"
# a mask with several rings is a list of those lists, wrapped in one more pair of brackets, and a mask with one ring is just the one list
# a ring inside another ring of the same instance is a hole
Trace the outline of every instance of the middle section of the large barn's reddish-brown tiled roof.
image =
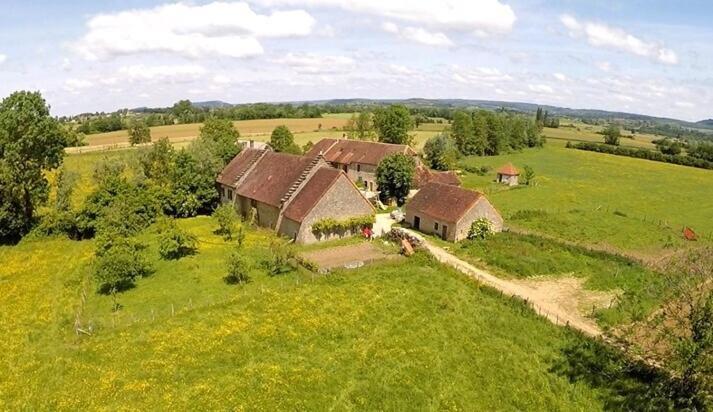
[(248, 174), (236, 193), (268, 205), (280, 207), (280, 199), (300, 177), (312, 158), (267, 152)]

